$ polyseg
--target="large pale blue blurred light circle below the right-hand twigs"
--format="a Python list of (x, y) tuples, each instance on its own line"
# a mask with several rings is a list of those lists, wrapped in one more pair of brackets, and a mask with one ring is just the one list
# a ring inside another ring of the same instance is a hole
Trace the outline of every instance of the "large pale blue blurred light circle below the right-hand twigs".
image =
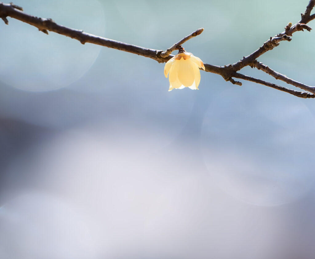
[(266, 91), (270, 96), (257, 97), (250, 88), (221, 93), (202, 126), (213, 180), (234, 198), (260, 206), (289, 203), (310, 190), (315, 144), (307, 137), (315, 131), (314, 116), (303, 101)]

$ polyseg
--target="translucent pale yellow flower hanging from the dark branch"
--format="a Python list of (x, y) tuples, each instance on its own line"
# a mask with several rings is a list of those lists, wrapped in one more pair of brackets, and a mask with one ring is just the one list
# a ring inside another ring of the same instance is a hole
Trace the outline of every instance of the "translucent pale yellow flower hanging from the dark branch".
[(169, 91), (183, 89), (198, 89), (200, 83), (199, 67), (205, 70), (203, 62), (200, 58), (195, 57), (192, 53), (178, 53), (166, 62), (164, 67), (164, 75), (167, 78), (169, 74)]

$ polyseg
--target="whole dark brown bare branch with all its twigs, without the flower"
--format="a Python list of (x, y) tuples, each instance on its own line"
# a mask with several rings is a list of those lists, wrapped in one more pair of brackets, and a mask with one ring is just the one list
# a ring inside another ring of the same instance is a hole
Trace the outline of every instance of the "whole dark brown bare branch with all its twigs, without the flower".
[[(315, 18), (315, 14), (310, 15), (311, 10), (313, 9), (315, 4), (315, 0), (309, 1), (308, 6), (306, 7), (306, 10), (304, 14), (301, 14), (302, 18), (301, 20), (292, 26), (291, 23), (289, 23), (285, 27), (285, 31), (282, 33), (279, 33), (278, 35), (274, 37), (270, 37), (269, 40), (267, 40), (263, 46), (261, 46), (259, 49), (257, 49), (255, 52), (252, 54), (248, 55), (247, 57), (243, 57), (242, 60), (238, 61), (237, 63), (227, 66), (215, 66), (215, 65), (210, 65), (204, 63), (205, 66), (205, 71), (206, 72), (211, 72), (215, 74), (221, 75), (226, 81), (230, 81), (233, 84), (237, 85), (242, 85), (241, 82), (235, 81), (233, 78), (240, 78), (243, 80), (263, 84), (269, 87), (272, 87), (274, 89), (278, 89), (284, 92), (287, 92), (289, 94), (301, 97), (301, 98), (314, 98), (315, 95), (315, 90), (313, 87), (299, 83), (297, 81), (294, 81), (290, 78), (287, 78), (286, 76), (279, 74), (278, 72), (275, 72), (268, 68), (267, 66), (258, 63), (256, 60), (257, 57), (260, 55), (264, 54), (266, 51), (273, 49), (274, 47), (278, 46), (280, 41), (286, 40), (290, 41), (291, 38), (289, 36), (292, 35), (292, 33), (296, 31), (303, 31), (303, 29), (306, 29), (308, 31), (311, 30), (309, 26), (306, 25), (307, 22), (310, 20), (313, 20)], [(198, 29), (197, 31), (189, 34), (188, 36), (184, 37), (181, 39), (179, 42), (175, 43), (172, 47), (167, 49), (166, 51), (163, 50), (157, 50), (157, 49), (148, 49), (148, 48), (143, 48), (140, 46), (128, 44), (128, 43), (123, 43), (119, 42), (116, 40), (96, 36), (90, 33), (83, 32), (82, 30), (76, 30), (72, 29), (66, 26), (61, 26), (55, 23), (52, 19), (48, 18), (40, 18), (33, 16), (31, 14), (26, 14), (23, 12), (23, 9), (17, 5), (14, 5), (13, 3), (6, 4), (0, 2), (0, 17), (2, 20), (8, 24), (8, 19), (7, 17), (12, 17), (14, 19), (26, 22), (32, 26), (35, 26), (38, 28), (39, 31), (42, 31), (46, 34), (48, 34), (48, 31), (55, 32), (61, 35), (65, 35), (67, 37), (71, 37), (73, 39), (77, 39), (80, 41), (82, 44), (85, 43), (92, 43), (92, 44), (97, 44), (100, 46), (112, 48), (112, 49), (118, 49), (126, 52), (130, 52), (133, 54), (141, 55), (144, 57), (151, 58), (153, 60), (158, 61), (159, 63), (167, 62), (169, 59), (174, 57), (174, 55), (170, 55), (172, 51), (174, 51), (177, 46), (185, 43), (187, 40), (191, 39), (192, 37), (195, 37), (203, 32), (203, 28)], [(255, 66), (259, 67), (261, 70), (271, 74), (272, 76), (276, 77), (277, 79), (281, 79), (286, 83), (290, 83), (294, 86), (300, 87), (301, 89), (307, 90), (309, 92), (312, 92), (313, 94), (306, 93), (306, 92), (299, 92), (295, 91), (292, 89), (288, 89), (273, 83), (269, 83), (257, 78), (252, 78), (240, 73), (237, 73), (236, 71), (240, 70), (244, 66)]]

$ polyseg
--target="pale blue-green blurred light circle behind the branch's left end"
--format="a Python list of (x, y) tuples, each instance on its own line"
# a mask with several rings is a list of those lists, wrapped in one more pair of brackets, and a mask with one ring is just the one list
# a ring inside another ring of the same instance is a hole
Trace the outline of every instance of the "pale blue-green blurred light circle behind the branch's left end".
[[(97, 0), (47, 0), (18, 3), (26, 13), (56, 23), (103, 35), (105, 16)], [(1, 28), (0, 78), (4, 83), (26, 91), (49, 91), (75, 82), (89, 70), (101, 46), (81, 44), (63, 35), (39, 32), (36, 27), (10, 19)]]

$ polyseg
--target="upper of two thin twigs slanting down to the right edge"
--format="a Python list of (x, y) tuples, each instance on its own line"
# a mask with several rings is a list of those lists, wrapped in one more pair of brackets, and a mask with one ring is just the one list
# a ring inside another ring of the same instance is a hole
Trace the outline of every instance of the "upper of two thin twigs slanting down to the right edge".
[(295, 81), (295, 80), (293, 80), (291, 78), (288, 78), (287, 76), (272, 70), (270, 67), (262, 64), (261, 62), (258, 62), (257, 60), (255, 60), (253, 62), (252, 66), (256, 67), (257, 69), (260, 69), (260, 70), (266, 72), (267, 74), (273, 76), (276, 79), (282, 80), (282, 81), (284, 81), (284, 82), (286, 82), (288, 84), (294, 85), (294, 86), (296, 86), (298, 88), (301, 88), (303, 90), (306, 90), (306, 91), (309, 91), (309, 92), (315, 94), (315, 87), (309, 86), (309, 85), (306, 85), (304, 83), (300, 83), (298, 81)]

